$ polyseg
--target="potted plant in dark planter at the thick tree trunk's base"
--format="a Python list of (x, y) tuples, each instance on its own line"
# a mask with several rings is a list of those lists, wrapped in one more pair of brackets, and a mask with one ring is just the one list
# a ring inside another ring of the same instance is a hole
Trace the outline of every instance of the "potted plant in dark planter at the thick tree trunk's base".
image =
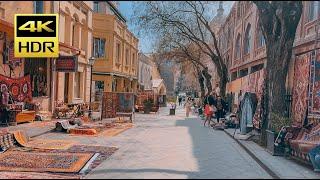
[[(283, 156), (285, 154), (283, 127), (290, 126), (292, 121), (288, 117), (282, 117), (278, 114), (270, 114), (271, 125), (267, 132), (267, 151), (273, 156)], [(279, 137), (278, 137), (279, 136)]]

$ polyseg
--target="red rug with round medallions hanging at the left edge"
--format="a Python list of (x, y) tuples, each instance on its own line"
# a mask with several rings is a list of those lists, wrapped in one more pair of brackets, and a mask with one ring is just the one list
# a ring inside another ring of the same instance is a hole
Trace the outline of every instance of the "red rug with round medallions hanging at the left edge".
[(13, 79), (0, 75), (0, 87), (1, 91), (6, 87), (16, 102), (30, 102), (32, 100), (30, 76)]

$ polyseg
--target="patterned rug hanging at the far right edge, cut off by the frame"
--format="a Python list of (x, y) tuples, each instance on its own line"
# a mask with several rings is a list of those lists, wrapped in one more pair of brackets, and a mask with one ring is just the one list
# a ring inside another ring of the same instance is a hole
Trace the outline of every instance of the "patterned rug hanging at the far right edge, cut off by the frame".
[[(311, 52), (308, 115), (320, 118), (320, 52)], [(315, 57), (315, 54), (318, 54)]]

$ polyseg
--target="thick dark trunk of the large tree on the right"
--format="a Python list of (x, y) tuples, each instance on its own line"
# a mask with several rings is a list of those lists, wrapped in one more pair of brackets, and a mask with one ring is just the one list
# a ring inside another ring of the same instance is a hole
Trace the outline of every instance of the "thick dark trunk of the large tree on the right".
[[(264, 130), (272, 123), (271, 113), (286, 116), (286, 77), (303, 6), (301, 1), (253, 2), (258, 7), (259, 23), (267, 48)], [(262, 138), (265, 142), (264, 131)]]

